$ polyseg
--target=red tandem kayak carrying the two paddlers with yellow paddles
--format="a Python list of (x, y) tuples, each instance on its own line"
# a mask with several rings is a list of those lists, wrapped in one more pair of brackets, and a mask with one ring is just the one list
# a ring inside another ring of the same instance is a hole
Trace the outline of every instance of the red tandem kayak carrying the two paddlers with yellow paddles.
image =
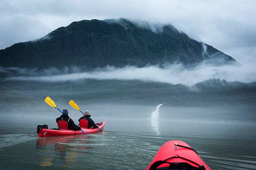
[[(99, 125), (97, 125), (97, 124), (99, 124)], [(97, 123), (97, 124), (96, 125), (101, 130), (104, 129), (105, 122), (100, 122), (100, 123)], [(88, 133), (101, 132), (99, 128), (97, 128), (97, 129), (81, 128), (81, 129), (84, 131), (84, 133), (88, 134)], [(40, 138), (43, 138), (43, 137), (49, 137), (49, 136), (84, 135), (84, 133), (82, 133), (81, 130), (74, 131), (74, 130), (67, 130), (67, 129), (40, 129), (39, 133), (38, 133), (38, 136)]]

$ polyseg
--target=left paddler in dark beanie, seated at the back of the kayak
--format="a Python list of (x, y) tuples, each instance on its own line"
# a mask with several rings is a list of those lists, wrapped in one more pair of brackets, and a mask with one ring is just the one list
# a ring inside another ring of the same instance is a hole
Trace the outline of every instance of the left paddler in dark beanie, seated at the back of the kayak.
[(59, 129), (69, 129), (69, 130), (81, 130), (81, 128), (75, 125), (74, 121), (69, 117), (69, 111), (67, 109), (62, 110), (62, 115), (56, 118)]

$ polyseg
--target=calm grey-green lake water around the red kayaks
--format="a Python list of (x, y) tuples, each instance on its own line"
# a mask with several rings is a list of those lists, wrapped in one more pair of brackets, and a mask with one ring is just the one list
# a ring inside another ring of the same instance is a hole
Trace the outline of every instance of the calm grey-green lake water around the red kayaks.
[[(38, 138), (37, 125), (56, 128), (55, 118), (60, 114), (55, 110), (55, 115), (44, 117), (0, 116), (0, 169), (143, 170), (169, 140), (189, 144), (212, 170), (256, 169), (255, 122), (227, 121), (226, 115), (220, 119), (216, 119), (218, 115), (202, 117), (202, 113), (198, 119), (186, 118), (191, 117), (189, 113), (168, 116), (167, 110), (182, 108), (164, 106), (159, 120), (151, 120), (155, 107), (134, 106), (137, 112), (146, 110), (140, 116), (134, 112), (129, 115), (130, 107), (120, 107), (127, 113), (117, 116), (112, 110), (92, 117), (95, 122), (106, 122), (105, 133), (66, 137)], [(193, 112), (193, 108), (184, 109)], [(199, 108), (194, 110), (200, 112)], [(70, 116), (77, 123), (80, 115)]]

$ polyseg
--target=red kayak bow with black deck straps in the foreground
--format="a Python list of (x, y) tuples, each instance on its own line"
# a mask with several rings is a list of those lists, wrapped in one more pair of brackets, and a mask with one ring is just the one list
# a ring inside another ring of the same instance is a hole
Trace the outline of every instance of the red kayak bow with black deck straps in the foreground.
[(162, 145), (146, 168), (146, 170), (181, 169), (211, 170), (195, 150), (180, 140), (170, 140)]

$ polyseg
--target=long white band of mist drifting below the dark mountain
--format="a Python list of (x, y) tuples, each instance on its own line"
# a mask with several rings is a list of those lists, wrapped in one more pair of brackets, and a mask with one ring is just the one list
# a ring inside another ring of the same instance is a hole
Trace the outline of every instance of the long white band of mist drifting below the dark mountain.
[[(17, 68), (16, 68), (17, 69)], [(4, 68), (2, 68), (4, 70)], [(64, 82), (82, 79), (96, 80), (142, 80), (153, 82), (165, 82), (171, 84), (193, 85), (209, 78), (220, 78), (227, 81), (254, 82), (256, 80), (256, 68), (254, 63), (248, 65), (222, 65), (214, 66), (203, 62), (196, 67), (186, 68), (182, 64), (166, 65), (165, 67), (127, 66), (123, 68), (105, 67), (95, 69), (92, 72), (74, 72), (56, 74), (56, 69), (49, 69), (44, 75), (33, 72), (30, 76), (7, 77), (4, 80), (24, 80), (41, 82)], [(24, 73), (24, 69), (22, 70)], [(54, 75), (55, 73), (55, 75)], [(36, 75), (37, 74), (37, 75)]]

